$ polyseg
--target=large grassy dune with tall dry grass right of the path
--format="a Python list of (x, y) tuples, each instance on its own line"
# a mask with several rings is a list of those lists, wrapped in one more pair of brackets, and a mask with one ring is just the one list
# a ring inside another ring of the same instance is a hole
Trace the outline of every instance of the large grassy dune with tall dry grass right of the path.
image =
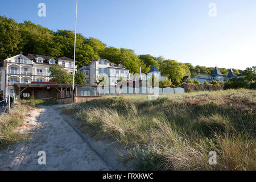
[[(65, 107), (88, 132), (131, 147), (142, 170), (255, 170), (255, 90), (105, 97)], [(209, 151), (217, 164), (209, 165)]]

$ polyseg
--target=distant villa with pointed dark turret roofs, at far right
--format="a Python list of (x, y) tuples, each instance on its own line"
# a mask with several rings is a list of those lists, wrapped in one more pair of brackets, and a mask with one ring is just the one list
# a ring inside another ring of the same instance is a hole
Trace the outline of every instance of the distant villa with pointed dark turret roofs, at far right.
[(200, 84), (204, 84), (205, 81), (209, 83), (213, 80), (226, 82), (233, 77), (238, 77), (238, 75), (234, 74), (232, 69), (229, 69), (228, 76), (225, 76), (220, 72), (220, 69), (218, 69), (218, 67), (215, 67), (212, 75), (197, 75), (193, 77), (192, 80), (196, 79), (200, 82)]

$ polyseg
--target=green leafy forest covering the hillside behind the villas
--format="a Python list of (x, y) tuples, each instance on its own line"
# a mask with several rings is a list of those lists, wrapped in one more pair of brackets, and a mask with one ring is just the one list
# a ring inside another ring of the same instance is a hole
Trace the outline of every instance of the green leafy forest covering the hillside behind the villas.
[[(0, 60), (18, 55), (34, 53), (53, 58), (70, 57), (73, 59), (75, 32), (71, 30), (52, 31), (31, 21), (17, 23), (12, 18), (0, 16)], [(176, 60), (165, 59), (163, 56), (154, 57), (150, 54), (137, 55), (134, 50), (127, 48), (109, 47), (101, 40), (77, 34), (76, 60), (78, 67), (90, 63), (94, 59), (108, 59), (115, 64), (123, 64), (131, 73), (138, 73), (139, 67), (147, 73), (155, 64), (163, 76), (168, 76), (172, 84), (178, 85), (184, 76), (197, 74), (211, 74), (214, 68), (194, 67), (190, 63), (179, 63)], [(224, 75), (229, 69), (220, 68)], [(236, 74), (241, 70), (233, 69)]]

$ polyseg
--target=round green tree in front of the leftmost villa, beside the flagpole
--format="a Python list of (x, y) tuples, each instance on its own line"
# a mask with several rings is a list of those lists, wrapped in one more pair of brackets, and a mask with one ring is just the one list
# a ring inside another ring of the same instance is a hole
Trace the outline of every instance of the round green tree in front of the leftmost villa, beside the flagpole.
[(73, 83), (73, 75), (68, 73), (68, 71), (59, 64), (51, 65), (49, 72), (51, 73), (50, 76), (52, 77), (50, 81), (57, 82), (57, 84), (68, 85)]

